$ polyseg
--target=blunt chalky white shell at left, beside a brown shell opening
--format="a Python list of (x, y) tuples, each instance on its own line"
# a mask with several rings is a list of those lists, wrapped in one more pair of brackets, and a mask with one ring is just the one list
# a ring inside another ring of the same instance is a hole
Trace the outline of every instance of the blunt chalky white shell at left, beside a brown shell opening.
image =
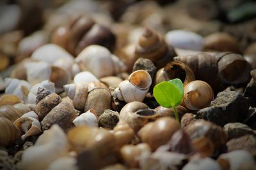
[(26, 63), (26, 69), (27, 80), (31, 85), (51, 78), (51, 66), (47, 62), (28, 62)]

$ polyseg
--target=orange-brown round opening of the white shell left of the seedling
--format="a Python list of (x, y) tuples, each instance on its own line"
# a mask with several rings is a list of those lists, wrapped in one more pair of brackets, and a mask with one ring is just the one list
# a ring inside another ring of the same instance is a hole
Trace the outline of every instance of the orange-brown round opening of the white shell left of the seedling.
[(150, 74), (144, 70), (134, 71), (129, 76), (129, 81), (140, 89), (148, 89), (152, 83)]

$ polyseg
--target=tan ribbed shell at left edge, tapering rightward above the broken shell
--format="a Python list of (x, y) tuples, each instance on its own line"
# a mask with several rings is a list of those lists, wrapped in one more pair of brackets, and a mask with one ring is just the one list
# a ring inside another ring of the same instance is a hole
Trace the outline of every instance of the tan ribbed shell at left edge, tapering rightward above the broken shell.
[(0, 117), (8, 118), (11, 122), (14, 122), (20, 118), (24, 113), (35, 110), (33, 104), (14, 104), (0, 106)]

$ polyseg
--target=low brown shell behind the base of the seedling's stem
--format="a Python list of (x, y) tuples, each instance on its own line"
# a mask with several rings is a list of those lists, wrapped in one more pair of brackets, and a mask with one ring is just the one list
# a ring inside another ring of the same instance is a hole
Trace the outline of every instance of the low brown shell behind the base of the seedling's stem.
[[(173, 108), (164, 108), (163, 106), (157, 106), (157, 108), (155, 108), (155, 110), (157, 111), (157, 113), (159, 113), (159, 117), (173, 117), (175, 118), (175, 113)], [(182, 116), (185, 113), (188, 113), (188, 110), (183, 107), (183, 106), (177, 106), (176, 110), (179, 114), (179, 120), (182, 118)]]

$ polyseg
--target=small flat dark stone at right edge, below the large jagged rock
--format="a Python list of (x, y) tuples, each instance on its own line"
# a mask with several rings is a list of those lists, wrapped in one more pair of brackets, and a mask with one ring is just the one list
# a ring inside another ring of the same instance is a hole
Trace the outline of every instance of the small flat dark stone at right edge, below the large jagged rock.
[(228, 139), (239, 138), (246, 134), (254, 134), (253, 130), (241, 123), (229, 123), (223, 127), (223, 130), (227, 132)]

